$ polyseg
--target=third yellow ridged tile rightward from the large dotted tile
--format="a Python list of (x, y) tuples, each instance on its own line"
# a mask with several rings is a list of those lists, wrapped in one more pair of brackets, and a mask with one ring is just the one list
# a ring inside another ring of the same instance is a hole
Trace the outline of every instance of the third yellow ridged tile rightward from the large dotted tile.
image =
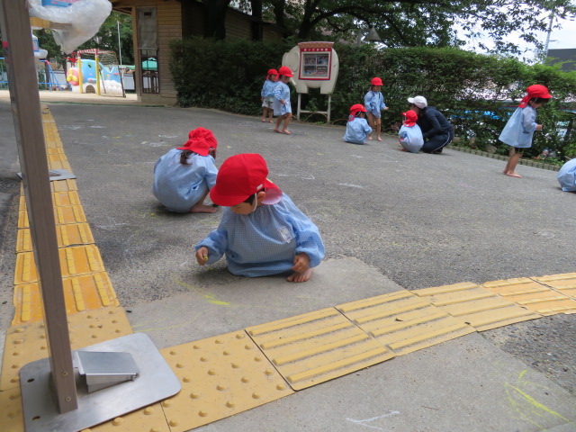
[(542, 315), (470, 282), (425, 288), (412, 293), (428, 298), (438, 308), (464, 320), (478, 331), (542, 318)]

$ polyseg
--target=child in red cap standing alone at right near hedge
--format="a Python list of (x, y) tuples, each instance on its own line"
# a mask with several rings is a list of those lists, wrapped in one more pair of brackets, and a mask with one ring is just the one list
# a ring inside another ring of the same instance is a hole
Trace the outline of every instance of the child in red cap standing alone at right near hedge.
[(504, 174), (521, 178), (516, 172), (518, 160), (522, 157), (524, 148), (532, 147), (535, 130), (542, 130), (541, 124), (536, 124), (536, 110), (547, 103), (552, 95), (544, 85), (530, 85), (527, 95), (522, 99), (516, 111), (500, 133), (500, 141), (510, 146), (510, 157)]

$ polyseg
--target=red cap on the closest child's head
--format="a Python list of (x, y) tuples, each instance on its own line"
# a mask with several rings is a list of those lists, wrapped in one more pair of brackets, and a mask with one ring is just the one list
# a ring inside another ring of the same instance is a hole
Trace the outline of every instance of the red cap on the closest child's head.
[(265, 188), (266, 198), (263, 203), (275, 204), (282, 199), (282, 191), (266, 175), (266, 160), (257, 153), (229, 157), (218, 170), (216, 184), (210, 191), (211, 200), (215, 204), (230, 207), (246, 201), (250, 195)]

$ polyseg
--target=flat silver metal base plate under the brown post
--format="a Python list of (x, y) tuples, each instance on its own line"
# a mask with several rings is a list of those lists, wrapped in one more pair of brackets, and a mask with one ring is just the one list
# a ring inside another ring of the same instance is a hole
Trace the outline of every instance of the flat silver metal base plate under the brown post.
[(181, 384), (148, 335), (135, 333), (78, 351), (130, 353), (139, 367), (135, 381), (94, 393), (77, 387), (77, 410), (60, 414), (50, 384), (49, 359), (24, 365), (20, 371), (26, 432), (76, 432), (115, 419), (180, 392)]

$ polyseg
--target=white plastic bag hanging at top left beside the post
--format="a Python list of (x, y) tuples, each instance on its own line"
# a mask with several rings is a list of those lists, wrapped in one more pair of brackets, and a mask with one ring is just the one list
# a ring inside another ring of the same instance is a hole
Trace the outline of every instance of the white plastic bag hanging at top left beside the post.
[(30, 16), (67, 24), (66, 30), (52, 30), (54, 40), (65, 53), (92, 39), (112, 12), (108, 0), (78, 0), (68, 7), (42, 6), (41, 0), (29, 0), (29, 4)]

